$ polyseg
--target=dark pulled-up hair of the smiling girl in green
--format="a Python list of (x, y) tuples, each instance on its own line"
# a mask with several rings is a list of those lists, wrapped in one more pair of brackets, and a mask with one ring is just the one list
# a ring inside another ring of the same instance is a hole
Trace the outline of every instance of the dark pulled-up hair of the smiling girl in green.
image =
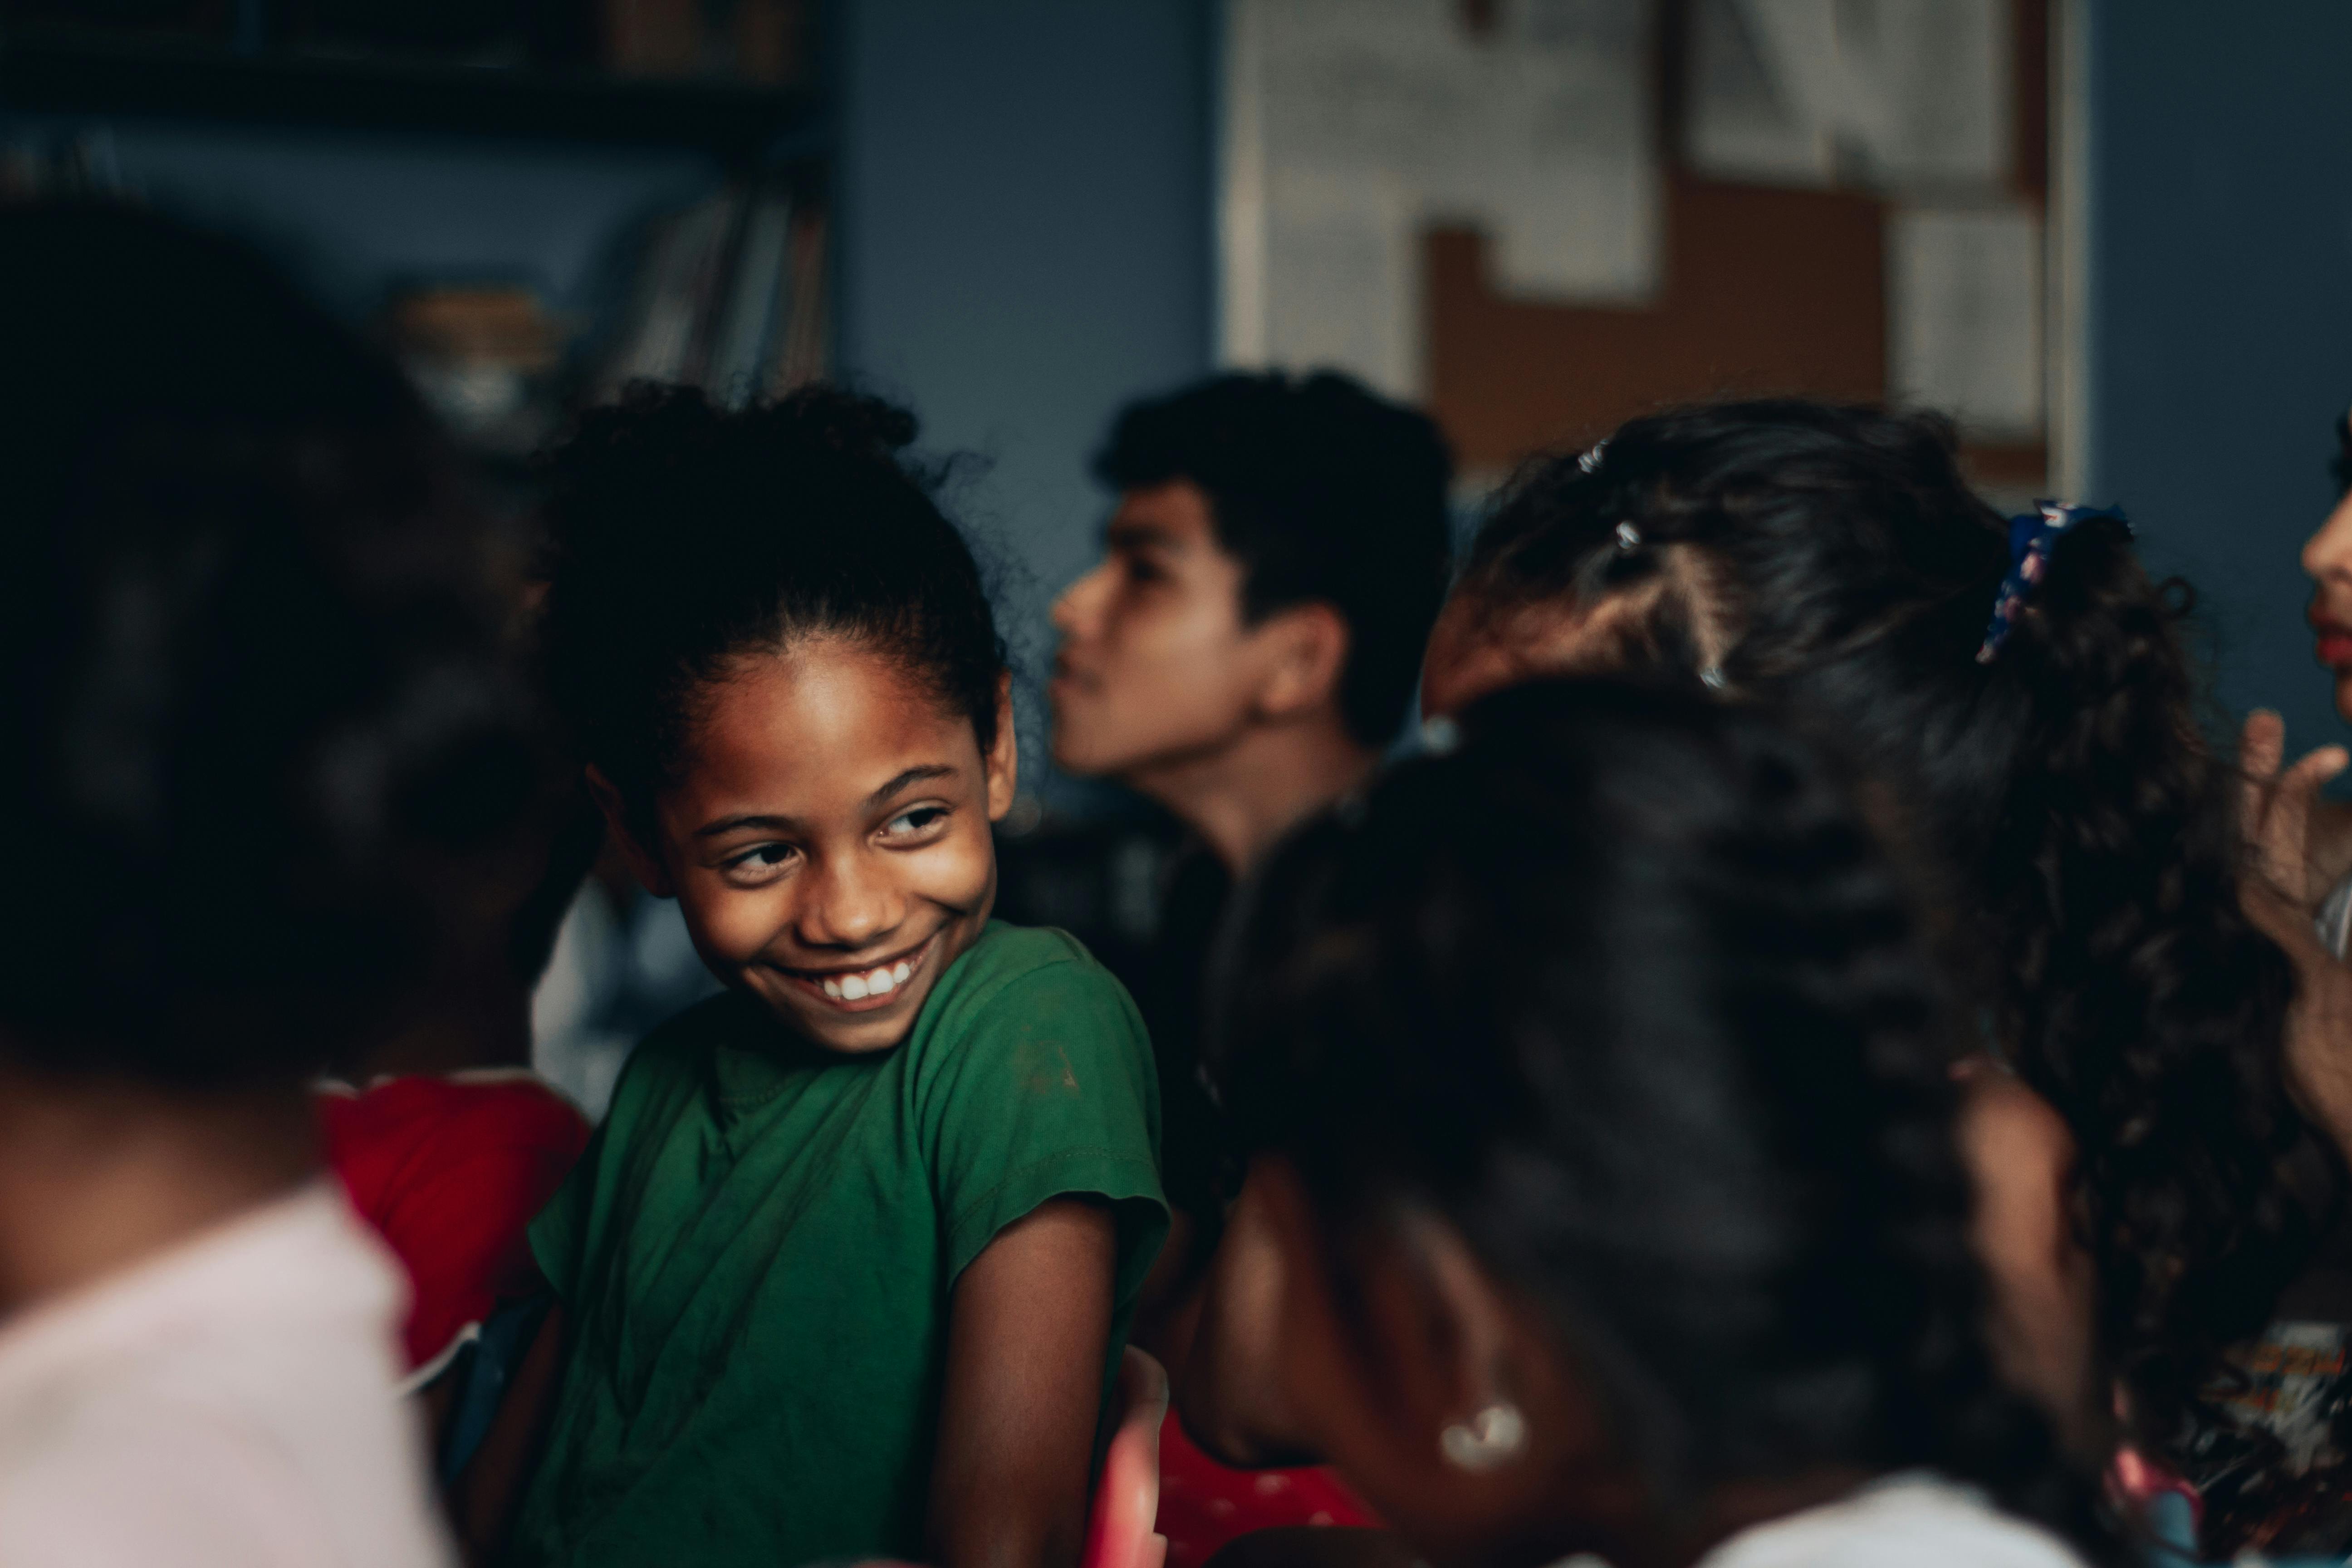
[(913, 414), (837, 388), (724, 411), (640, 383), (548, 458), (548, 675), (633, 811), (670, 780), (696, 693), (800, 637), (870, 646), (995, 743), (1004, 642), (971, 545), (901, 458), (913, 440)]

